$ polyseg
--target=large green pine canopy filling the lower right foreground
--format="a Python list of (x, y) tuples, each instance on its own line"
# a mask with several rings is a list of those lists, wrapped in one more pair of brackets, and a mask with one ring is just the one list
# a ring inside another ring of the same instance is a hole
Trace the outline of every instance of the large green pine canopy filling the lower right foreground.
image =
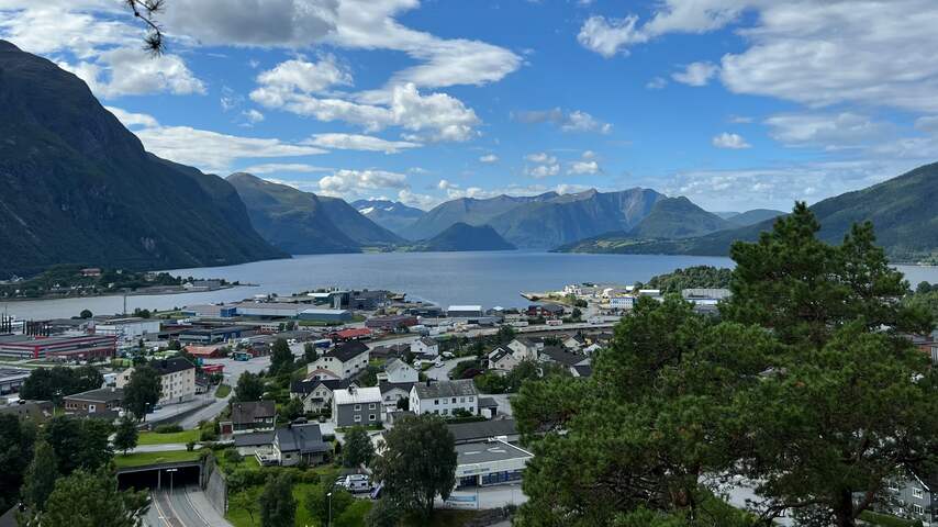
[[(797, 204), (733, 256), (721, 317), (638, 299), (589, 379), (526, 382), (521, 526), (756, 525), (782, 512), (852, 527), (904, 468), (934, 461), (936, 373), (924, 310), (856, 225), (839, 246)], [(758, 482), (750, 514), (723, 483)], [(856, 498), (856, 500), (855, 500)], [(714, 523), (715, 517), (721, 518)]]

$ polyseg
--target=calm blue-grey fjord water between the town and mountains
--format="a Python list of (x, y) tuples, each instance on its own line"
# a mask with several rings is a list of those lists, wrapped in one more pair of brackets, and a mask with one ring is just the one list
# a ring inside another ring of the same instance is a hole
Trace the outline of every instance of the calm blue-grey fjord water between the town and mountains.
[[(339, 287), (389, 289), (411, 299), (484, 307), (525, 305), (518, 293), (558, 290), (572, 282), (633, 283), (655, 274), (696, 265), (732, 267), (728, 258), (645, 255), (567, 255), (535, 251), (499, 253), (387, 253), (367, 255), (311, 255), (241, 266), (177, 269), (183, 277), (224, 278), (256, 283), (204, 293), (127, 296), (127, 310), (170, 309), (187, 304), (230, 302), (258, 293), (290, 294)], [(938, 282), (938, 268), (901, 266), (908, 280)], [(52, 318), (120, 313), (123, 299), (100, 296), (0, 304), (19, 318)]]

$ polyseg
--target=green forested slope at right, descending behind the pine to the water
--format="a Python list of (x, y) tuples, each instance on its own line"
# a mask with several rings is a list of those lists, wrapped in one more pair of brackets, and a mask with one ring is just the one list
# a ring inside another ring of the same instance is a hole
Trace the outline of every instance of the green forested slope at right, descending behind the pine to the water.
[[(938, 164), (925, 165), (882, 183), (815, 203), (811, 210), (822, 228), (818, 236), (839, 243), (850, 225), (871, 221), (876, 240), (894, 261), (935, 261), (938, 258)], [(726, 256), (734, 240), (755, 240), (771, 228), (772, 220), (748, 227), (677, 240), (612, 240), (594, 244), (600, 251)], [(584, 250), (567, 247), (565, 250)]]

